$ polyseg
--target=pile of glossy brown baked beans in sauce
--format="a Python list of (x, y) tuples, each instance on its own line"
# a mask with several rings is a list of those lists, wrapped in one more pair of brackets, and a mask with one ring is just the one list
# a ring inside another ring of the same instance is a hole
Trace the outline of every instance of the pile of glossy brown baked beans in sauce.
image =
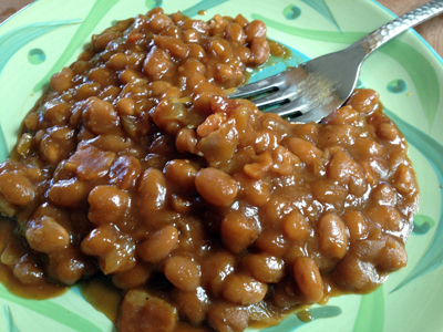
[(93, 35), (0, 164), (1, 269), (122, 291), (119, 331), (243, 331), (406, 263), (419, 189), (379, 95), (321, 124), (226, 89), (285, 48), (261, 21), (162, 9)]

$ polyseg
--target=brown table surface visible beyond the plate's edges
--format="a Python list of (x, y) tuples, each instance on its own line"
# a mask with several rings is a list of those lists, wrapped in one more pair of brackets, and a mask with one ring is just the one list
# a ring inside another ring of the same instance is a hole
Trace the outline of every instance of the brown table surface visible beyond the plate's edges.
[[(0, 0), (0, 22), (30, 2), (32, 0)], [(379, 2), (396, 15), (402, 15), (429, 0), (379, 0)], [(415, 30), (443, 58), (443, 14), (420, 24)]]

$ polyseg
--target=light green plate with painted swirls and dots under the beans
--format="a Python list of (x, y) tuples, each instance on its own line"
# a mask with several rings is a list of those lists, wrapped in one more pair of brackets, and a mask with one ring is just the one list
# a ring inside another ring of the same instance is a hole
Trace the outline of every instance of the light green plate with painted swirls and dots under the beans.
[[(52, 73), (73, 62), (93, 33), (156, 6), (204, 20), (216, 13), (264, 20), (268, 37), (291, 46), (297, 61), (341, 50), (393, 18), (370, 0), (35, 1), (0, 25), (0, 160), (8, 157), (21, 118)], [(343, 295), (311, 308), (311, 322), (291, 315), (267, 332), (443, 331), (442, 59), (408, 31), (365, 61), (360, 83), (380, 93), (410, 144), (418, 173), (421, 208), (406, 243), (408, 267), (370, 294)], [(115, 331), (78, 288), (34, 301), (0, 284), (0, 307), (1, 331)]]

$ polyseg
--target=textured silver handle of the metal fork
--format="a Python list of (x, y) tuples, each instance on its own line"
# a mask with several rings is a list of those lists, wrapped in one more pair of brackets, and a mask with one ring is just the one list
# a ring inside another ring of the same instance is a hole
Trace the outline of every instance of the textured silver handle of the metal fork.
[(370, 34), (363, 37), (356, 44), (360, 44), (365, 50), (367, 58), (378, 48), (380, 48), (385, 42), (390, 41), (392, 38), (399, 35), (404, 30), (415, 27), (429, 19), (436, 17), (443, 12), (443, 0), (433, 0), (419, 7), (404, 15), (401, 15), (391, 22), (380, 27)]

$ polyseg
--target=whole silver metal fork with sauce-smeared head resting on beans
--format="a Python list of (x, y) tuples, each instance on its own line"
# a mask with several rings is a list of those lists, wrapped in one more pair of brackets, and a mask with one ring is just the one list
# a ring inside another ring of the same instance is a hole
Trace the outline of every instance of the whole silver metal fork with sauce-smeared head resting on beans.
[(433, 0), (363, 37), (344, 50), (326, 54), (277, 75), (240, 86), (230, 98), (251, 97), (259, 108), (295, 122), (319, 122), (344, 104), (356, 87), (361, 64), (381, 45), (443, 11), (443, 0)]

